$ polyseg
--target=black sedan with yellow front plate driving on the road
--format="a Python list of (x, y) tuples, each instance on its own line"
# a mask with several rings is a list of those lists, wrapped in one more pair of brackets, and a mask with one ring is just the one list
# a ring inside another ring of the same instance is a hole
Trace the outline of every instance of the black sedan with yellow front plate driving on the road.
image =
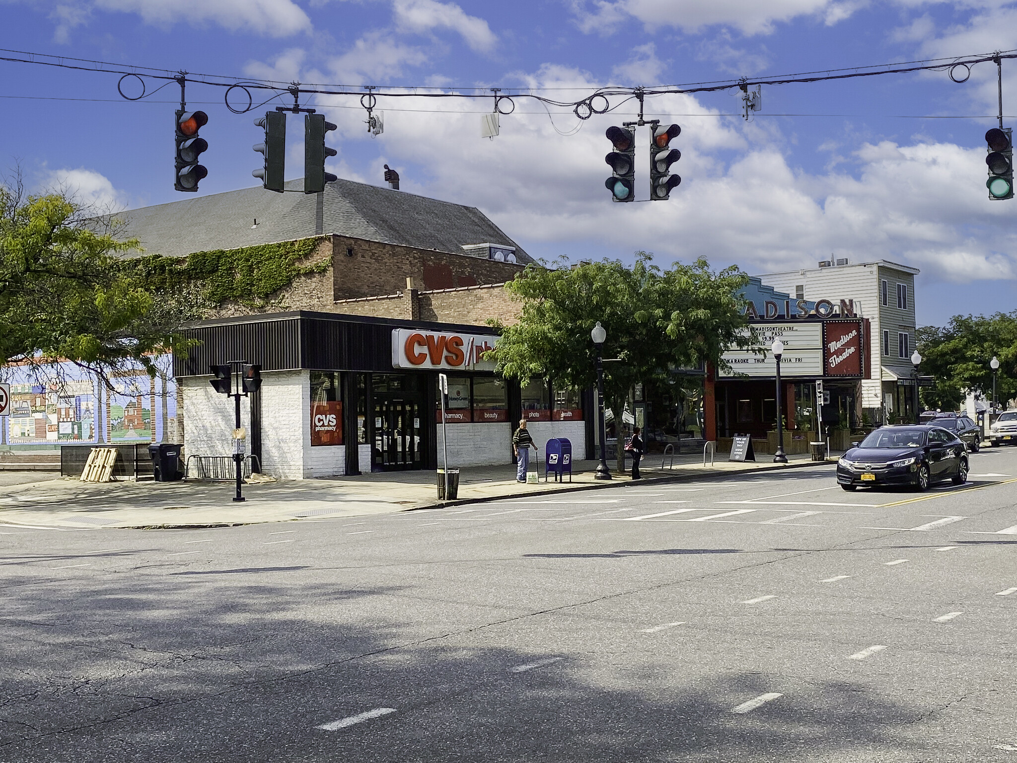
[(859, 485), (913, 485), (967, 481), (967, 449), (942, 426), (881, 426), (837, 462), (837, 482), (845, 490)]

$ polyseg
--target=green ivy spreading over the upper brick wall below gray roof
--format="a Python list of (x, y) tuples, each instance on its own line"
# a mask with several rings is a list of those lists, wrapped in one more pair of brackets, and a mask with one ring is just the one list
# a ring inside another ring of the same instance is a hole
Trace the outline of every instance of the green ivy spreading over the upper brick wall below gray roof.
[(237, 302), (261, 309), (267, 298), (299, 276), (323, 273), (331, 258), (305, 265), (324, 236), (244, 246), (238, 249), (197, 251), (186, 257), (147, 254), (124, 260), (157, 292), (196, 287), (212, 305)]

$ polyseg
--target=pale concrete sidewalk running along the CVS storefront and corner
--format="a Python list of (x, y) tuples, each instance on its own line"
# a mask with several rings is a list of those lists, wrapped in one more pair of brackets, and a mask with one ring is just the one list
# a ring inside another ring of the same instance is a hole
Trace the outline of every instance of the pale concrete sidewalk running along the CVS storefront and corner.
[[(723, 458), (726, 458), (723, 457)], [(718, 460), (704, 467), (701, 456), (676, 456), (673, 468), (643, 469), (641, 484), (656, 481), (742, 475), (781, 468), (814, 465), (809, 456), (789, 457), (790, 463)], [(659, 457), (658, 457), (659, 459)], [(670, 462), (670, 457), (668, 457)], [(647, 465), (659, 465), (648, 459)], [(819, 465), (819, 464), (817, 464)], [(234, 486), (226, 482), (125, 481), (93, 484), (76, 478), (39, 479), (38, 473), (5, 480), (0, 496), (0, 527), (40, 529), (223, 527), (302, 519), (340, 519), (371, 514), (458, 506), (496, 498), (589, 490), (632, 482), (629, 475), (610, 481), (593, 478), (595, 461), (576, 465), (572, 482), (521, 484), (514, 465), (464, 468), (459, 498), (437, 501), (436, 476), (431, 471), (385, 472), (327, 479), (244, 484), (244, 503), (234, 503)], [(613, 466), (613, 464), (612, 464)], [(567, 476), (565, 477), (567, 480)], [(0, 529), (2, 533), (2, 529)]]

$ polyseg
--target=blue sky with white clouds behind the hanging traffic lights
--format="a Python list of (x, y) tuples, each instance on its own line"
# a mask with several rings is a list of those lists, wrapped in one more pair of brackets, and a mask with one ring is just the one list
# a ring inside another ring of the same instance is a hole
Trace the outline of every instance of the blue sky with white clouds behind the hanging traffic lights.
[[(608, 85), (1005, 51), (1017, 40), (1017, 2), (0, 0), (0, 18), (2, 48), (118, 67), (358, 93), (479, 94), (382, 95), (377, 136), (358, 96), (306, 96), (301, 105), (338, 125), (330, 172), (383, 186), (387, 164), (404, 192), (477, 207), (548, 262), (632, 261), (646, 250), (661, 267), (706, 257), (758, 275), (821, 259), (889, 259), (921, 271), (919, 325), (1017, 309), (1017, 198), (990, 200), (984, 186), (983, 135), (998, 108), (991, 62), (963, 83), (929, 71), (763, 85), (749, 120), (737, 90), (648, 97), (647, 119), (681, 127), (672, 141), (681, 184), (667, 200), (614, 203), (604, 187), (604, 131), (636, 118), (634, 100), (612, 97), (609, 113), (581, 120), (571, 107), (517, 97), (501, 102), (501, 111), (515, 110), (500, 116), (498, 136), (480, 132), (492, 87), (571, 103)], [(155, 92), (163, 82), (148, 79), (146, 96), (127, 101), (115, 74), (7, 61), (0, 72), (8, 115), (0, 168), (20, 167), (32, 190), (68, 189), (119, 209), (184, 197), (173, 189), (175, 82)], [(1004, 113), (1017, 115), (1017, 59), (1003, 62), (1003, 86)], [(133, 97), (140, 82), (128, 78), (122, 89)], [(292, 103), (283, 94), (235, 114), (224, 92), (187, 86), (188, 107), (208, 114), (199, 195), (258, 185), (254, 119)], [(247, 99), (234, 90), (230, 103)], [(303, 174), (301, 122), (290, 116), (287, 178)], [(639, 128), (638, 199), (649, 196), (648, 141), (649, 128)]]

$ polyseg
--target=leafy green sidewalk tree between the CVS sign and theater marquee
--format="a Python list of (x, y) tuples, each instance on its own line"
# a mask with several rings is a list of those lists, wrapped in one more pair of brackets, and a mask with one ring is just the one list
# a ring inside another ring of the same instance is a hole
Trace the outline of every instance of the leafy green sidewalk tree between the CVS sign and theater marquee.
[[(709, 262), (675, 262), (661, 271), (653, 256), (637, 252), (629, 268), (618, 260), (558, 269), (528, 266), (505, 289), (522, 301), (513, 326), (501, 330), (492, 357), (498, 372), (527, 384), (547, 378), (585, 389), (596, 383), (590, 332), (599, 320), (607, 331), (605, 404), (619, 422), (637, 383), (663, 382), (677, 367), (719, 363), (731, 345), (747, 343), (739, 290), (747, 277), (736, 268), (715, 273)], [(621, 469), (623, 454), (618, 449)]]

